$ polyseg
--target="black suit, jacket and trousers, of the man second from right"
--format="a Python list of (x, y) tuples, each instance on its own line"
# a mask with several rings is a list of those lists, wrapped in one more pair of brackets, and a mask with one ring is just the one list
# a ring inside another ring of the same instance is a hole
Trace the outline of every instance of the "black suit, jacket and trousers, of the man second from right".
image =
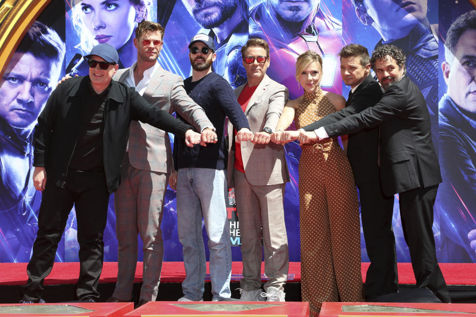
[[(326, 115), (303, 129), (312, 131), (337, 122), (375, 105), (382, 97), (380, 85), (368, 75), (346, 103), (346, 108)], [(378, 128), (349, 135), (347, 157), (354, 172), (360, 198), (363, 235), (370, 266), (365, 279), (365, 297), (397, 292), (397, 260), (392, 229), (393, 195), (387, 197), (380, 187), (377, 165)]]

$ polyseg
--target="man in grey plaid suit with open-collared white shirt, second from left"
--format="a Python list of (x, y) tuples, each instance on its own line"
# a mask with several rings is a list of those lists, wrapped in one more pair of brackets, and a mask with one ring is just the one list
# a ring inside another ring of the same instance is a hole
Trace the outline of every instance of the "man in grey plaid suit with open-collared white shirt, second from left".
[[(201, 131), (203, 143), (216, 143), (213, 124), (203, 109), (183, 89), (180, 76), (158, 63), (164, 28), (143, 21), (135, 31), (137, 62), (121, 69), (114, 79), (134, 87), (151, 105), (177, 111)], [(128, 151), (121, 167), (119, 190), (115, 197), (116, 229), (119, 241), (118, 281), (109, 302), (130, 301), (137, 263), (137, 234), (144, 250), (143, 283), (136, 307), (155, 301), (160, 281), (164, 246), (160, 224), (164, 195), (173, 169), (169, 136), (148, 124), (132, 121)]]

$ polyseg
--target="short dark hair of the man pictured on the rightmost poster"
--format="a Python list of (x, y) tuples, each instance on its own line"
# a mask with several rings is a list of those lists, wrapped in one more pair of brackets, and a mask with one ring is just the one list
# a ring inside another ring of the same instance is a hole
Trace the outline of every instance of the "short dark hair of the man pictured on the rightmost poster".
[(448, 63), (453, 62), (456, 45), (466, 30), (476, 30), (476, 10), (460, 15), (448, 29), (445, 42), (445, 59)]

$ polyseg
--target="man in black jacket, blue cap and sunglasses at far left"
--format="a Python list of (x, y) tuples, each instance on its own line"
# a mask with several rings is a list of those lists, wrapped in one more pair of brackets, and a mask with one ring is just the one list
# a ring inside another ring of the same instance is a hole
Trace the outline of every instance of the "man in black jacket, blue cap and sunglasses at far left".
[(131, 120), (176, 133), (189, 146), (200, 140), (191, 126), (150, 106), (134, 89), (112, 81), (119, 67), (119, 55), (112, 46), (99, 44), (85, 58), (89, 76), (74, 77), (58, 86), (35, 129), (33, 183), (43, 197), (27, 266), (29, 279), (20, 303), (44, 302), (43, 280), (53, 268), (73, 204), (80, 246), (76, 295), (81, 301), (99, 299), (109, 194), (119, 187)]

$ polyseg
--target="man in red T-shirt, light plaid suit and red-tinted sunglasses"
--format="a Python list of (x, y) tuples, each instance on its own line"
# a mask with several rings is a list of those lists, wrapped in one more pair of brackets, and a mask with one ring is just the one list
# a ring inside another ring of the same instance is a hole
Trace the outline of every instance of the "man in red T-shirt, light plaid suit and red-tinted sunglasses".
[[(234, 142), (229, 124), (228, 185), (235, 186), (243, 261), (240, 299), (283, 302), (289, 268), (283, 199), (289, 174), (283, 146), (269, 141), (289, 92), (266, 75), (270, 64), (266, 41), (249, 39), (241, 55), (248, 81), (235, 90), (235, 95), (254, 138), (252, 143)], [(263, 293), (261, 236), (264, 271), (269, 277)]]

